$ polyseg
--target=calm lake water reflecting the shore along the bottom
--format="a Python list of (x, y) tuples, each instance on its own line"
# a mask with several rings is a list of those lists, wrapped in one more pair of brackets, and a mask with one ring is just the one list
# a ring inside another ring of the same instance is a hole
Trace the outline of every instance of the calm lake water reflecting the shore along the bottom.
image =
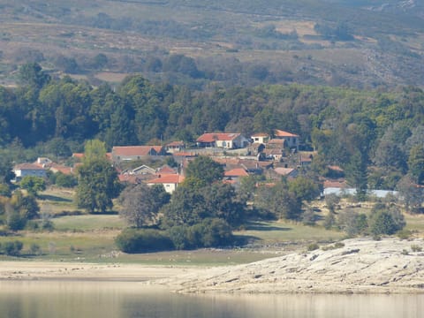
[(418, 318), (423, 313), (424, 295), (179, 295), (127, 282), (0, 282), (2, 318)]

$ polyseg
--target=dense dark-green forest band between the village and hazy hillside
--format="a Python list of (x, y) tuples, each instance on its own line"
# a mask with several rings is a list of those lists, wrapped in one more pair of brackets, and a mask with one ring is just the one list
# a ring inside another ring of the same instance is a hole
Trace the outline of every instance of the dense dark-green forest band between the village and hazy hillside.
[(394, 188), (407, 172), (419, 183), (424, 178), (424, 92), (417, 87), (378, 92), (293, 84), (194, 92), (140, 75), (116, 88), (92, 87), (69, 77), (50, 79), (38, 64), (23, 65), (19, 79), (16, 89), (0, 87), (0, 145), (15, 161), (26, 159), (25, 148), (56, 158), (81, 151), (91, 139), (110, 149), (190, 143), (204, 132), (248, 137), (283, 129), (318, 150), (315, 165), (322, 170), (337, 164), (356, 171), (354, 186)]

